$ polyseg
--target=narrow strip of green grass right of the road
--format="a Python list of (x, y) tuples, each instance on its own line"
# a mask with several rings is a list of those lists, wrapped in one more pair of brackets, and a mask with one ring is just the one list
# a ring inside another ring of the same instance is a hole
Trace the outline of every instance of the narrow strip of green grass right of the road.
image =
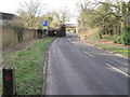
[(99, 46), (99, 47), (102, 47), (104, 50), (115, 52), (115, 53), (123, 55), (126, 57), (128, 57), (128, 55), (130, 54), (130, 50), (127, 50), (127, 48), (120, 48), (120, 47), (105, 45), (105, 44), (95, 44), (95, 46)]

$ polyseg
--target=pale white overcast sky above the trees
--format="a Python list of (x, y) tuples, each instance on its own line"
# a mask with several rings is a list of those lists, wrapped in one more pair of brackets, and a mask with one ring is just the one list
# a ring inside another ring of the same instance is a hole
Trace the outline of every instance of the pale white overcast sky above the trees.
[[(25, 1), (29, 1), (29, 0), (1, 0), (0, 12), (15, 14), (20, 8), (20, 2), (24, 3)], [(36, 0), (36, 1), (40, 1), (41, 4), (43, 5), (46, 4), (46, 9), (44, 9), (46, 11), (60, 10), (66, 6), (72, 14), (74, 13), (77, 14), (76, 3), (83, 0)], [(90, 1), (92, 2), (93, 0)], [(104, 0), (96, 0), (96, 1), (104, 1)], [(129, 0), (122, 0), (122, 1), (129, 1)], [(72, 20), (75, 20), (75, 18), (72, 18)]]

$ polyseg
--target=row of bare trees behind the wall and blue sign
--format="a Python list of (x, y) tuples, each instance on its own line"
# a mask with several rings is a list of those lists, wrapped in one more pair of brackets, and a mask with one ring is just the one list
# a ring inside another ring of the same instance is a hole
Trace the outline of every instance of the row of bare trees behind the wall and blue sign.
[(42, 29), (43, 20), (49, 22), (50, 28), (57, 28), (68, 19), (69, 14), (66, 8), (62, 8), (60, 11), (47, 11), (48, 9), (44, 5), (35, 0), (20, 3), (16, 20), (23, 24), (25, 28)]

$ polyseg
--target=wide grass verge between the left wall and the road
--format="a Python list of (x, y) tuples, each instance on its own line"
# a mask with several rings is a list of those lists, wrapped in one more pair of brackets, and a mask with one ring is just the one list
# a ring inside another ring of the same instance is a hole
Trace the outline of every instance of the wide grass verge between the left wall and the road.
[[(54, 38), (36, 42), (31, 47), (4, 55), (4, 65), (15, 68), (15, 86), (21, 95), (41, 95), (43, 61)], [(1, 87), (1, 86), (0, 86)]]

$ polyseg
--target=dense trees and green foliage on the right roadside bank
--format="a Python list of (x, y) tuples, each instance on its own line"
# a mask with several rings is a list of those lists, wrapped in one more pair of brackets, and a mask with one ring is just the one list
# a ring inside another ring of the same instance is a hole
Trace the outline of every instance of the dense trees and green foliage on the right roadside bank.
[[(80, 3), (79, 29), (92, 29), (100, 27), (100, 36), (117, 36), (116, 43), (129, 44), (129, 12), (130, 1), (104, 1)], [(87, 31), (87, 30), (86, 30)], [(79, 32), (79, 34), (82, 32)]]

